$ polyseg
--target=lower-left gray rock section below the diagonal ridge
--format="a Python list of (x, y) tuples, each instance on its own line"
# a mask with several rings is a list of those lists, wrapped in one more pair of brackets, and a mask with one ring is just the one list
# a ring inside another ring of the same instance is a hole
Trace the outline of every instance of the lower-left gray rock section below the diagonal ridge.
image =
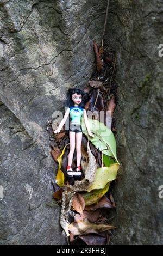
[(62, 245), (59, 209), (52, 200), (54, 161), (5, 105), (0, 114), (1, 243)]

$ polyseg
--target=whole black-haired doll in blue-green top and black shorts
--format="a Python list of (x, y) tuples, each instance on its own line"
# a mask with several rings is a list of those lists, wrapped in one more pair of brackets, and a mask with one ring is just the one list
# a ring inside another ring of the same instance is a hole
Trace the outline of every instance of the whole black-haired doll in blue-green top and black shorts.
[[(90, 100), (89, 94), (83, 90), (74, 88), (68, 89), (66, 106), (68, 106), (64, 118), (59, 124), (57, 130), (54, 133), (60, 132), (62, 126), (65, 124), (66, 119), (69, 117), (69, 138), (70, 138), (70, 152), (68, 154), (68, 166), (67, 176), (68, 178), (79, 178), (82, 176), (80, 160), (81, 160), (81, 144), (82, 144), (82, 125), (81, 118), (84, 117), (85, 126), (89, 136), (94, 137), (90, 130), (89, 121), (87, 119), (86, 110), (84, 109), (86, 102)], [(72, 170), (71, 164), (76, 146), (77, 153), (77, 166), (75, 170)]]

